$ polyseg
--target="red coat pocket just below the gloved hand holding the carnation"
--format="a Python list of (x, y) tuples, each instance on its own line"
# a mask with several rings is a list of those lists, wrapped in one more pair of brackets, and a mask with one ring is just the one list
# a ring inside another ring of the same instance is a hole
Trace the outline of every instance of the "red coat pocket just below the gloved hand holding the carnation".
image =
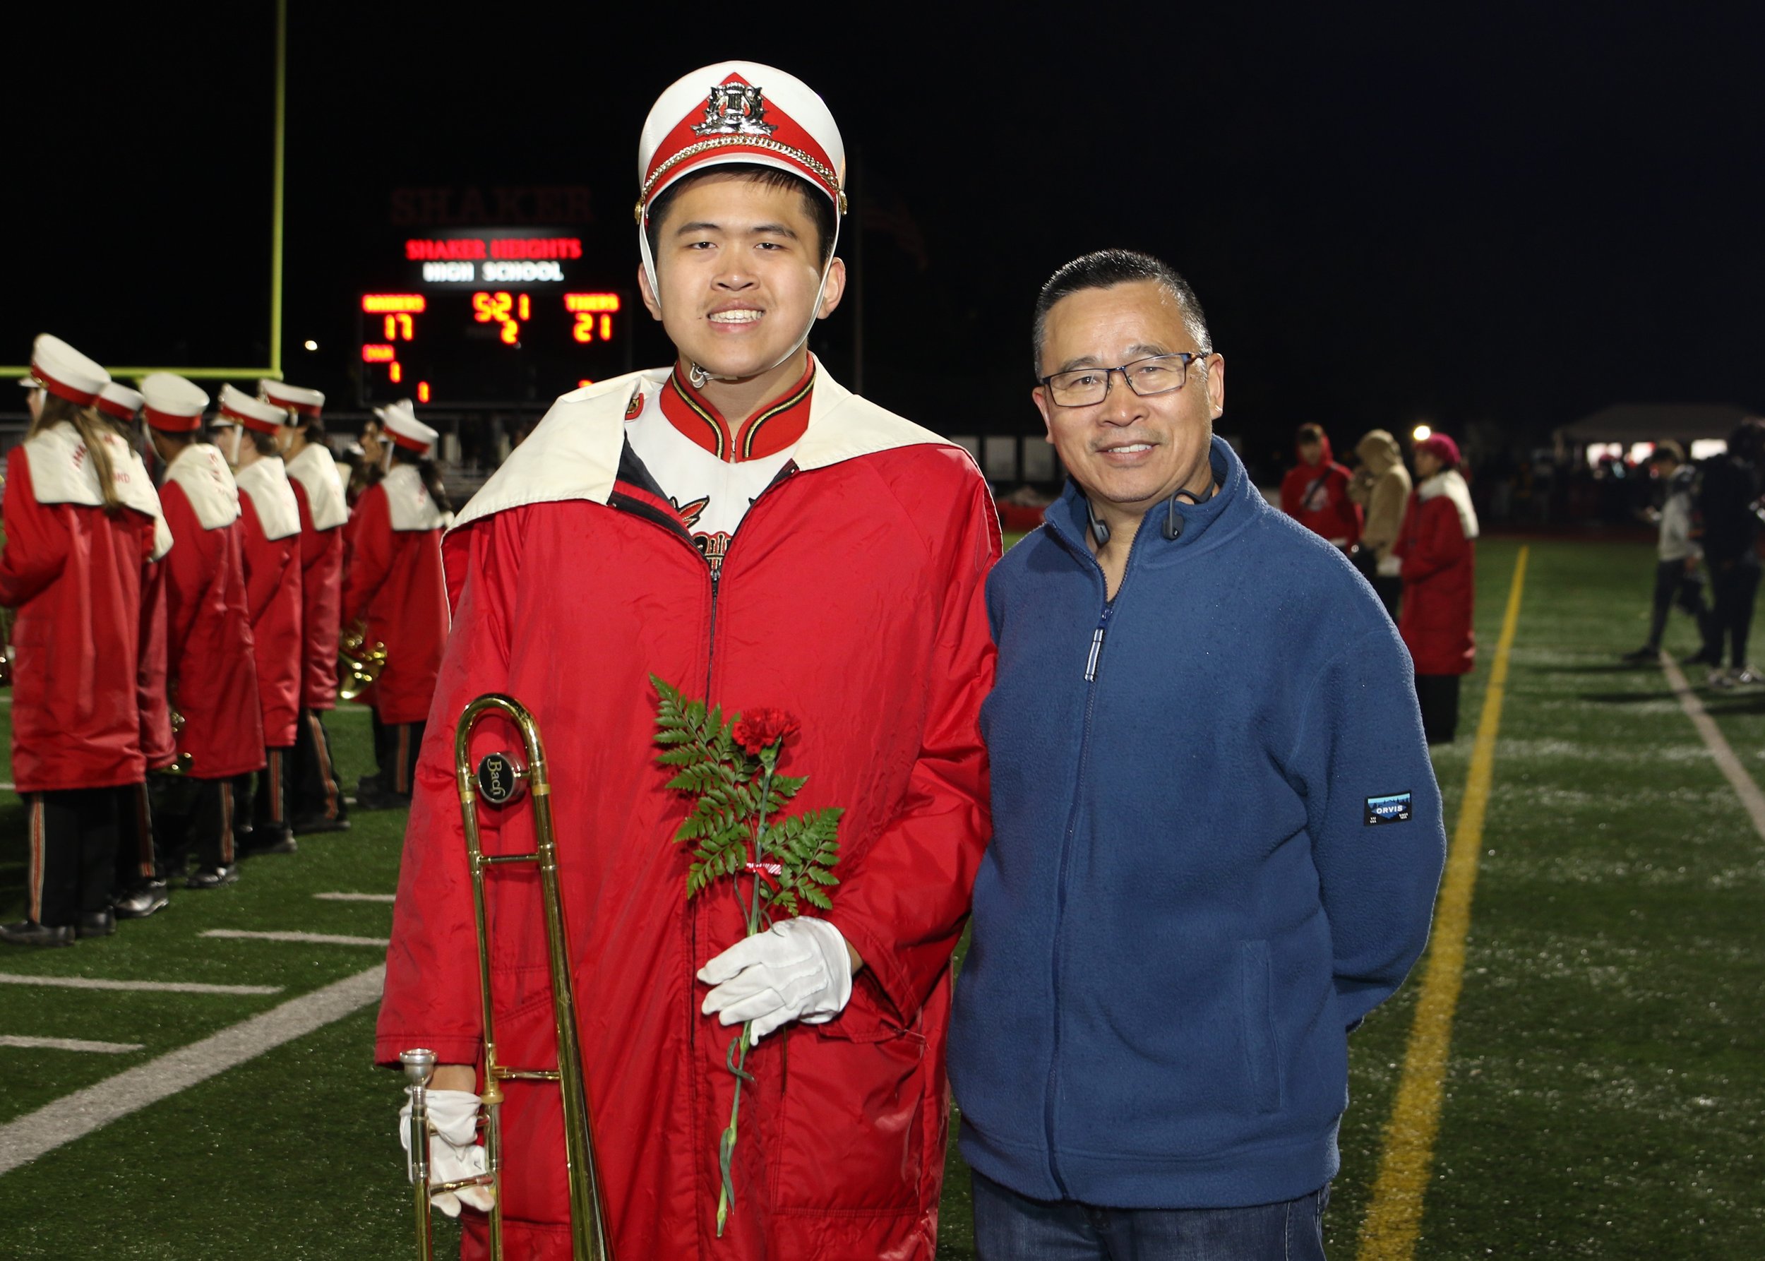
[(925, 1037), (888, 1021), (854, 989), (828, 1024), (792, 1026), (785, 1054), (773, 1208), (920, 1212), (934, 1077)]

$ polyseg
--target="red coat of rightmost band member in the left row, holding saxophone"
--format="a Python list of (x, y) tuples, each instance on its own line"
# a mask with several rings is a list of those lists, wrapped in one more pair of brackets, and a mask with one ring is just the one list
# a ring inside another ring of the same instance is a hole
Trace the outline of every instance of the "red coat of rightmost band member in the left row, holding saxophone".
[(364, 698), (387, 724), (429, 717), (448, 630), (441, 576), (447, 525), (413, 464), (394, 464), (349, 516), (342, 625), (365, 620), (367, 643), (387, 645), (387, 664)]

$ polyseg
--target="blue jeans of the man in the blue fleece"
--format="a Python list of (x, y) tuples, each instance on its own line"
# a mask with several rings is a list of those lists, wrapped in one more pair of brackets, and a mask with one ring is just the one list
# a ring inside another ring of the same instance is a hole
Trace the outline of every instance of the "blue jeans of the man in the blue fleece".
[(974, 1174), (980, 1261), (1324, 1261), (1329, 1183), (1253, 1208), (1096, 1208)]

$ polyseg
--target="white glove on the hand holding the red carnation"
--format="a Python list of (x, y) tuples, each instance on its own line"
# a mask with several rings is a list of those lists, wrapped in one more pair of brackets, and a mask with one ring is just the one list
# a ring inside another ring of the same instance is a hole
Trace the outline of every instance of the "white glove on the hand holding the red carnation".
[(717, 985), (699, 1010), (724, 1024), (754, 1021), (750, 1037), (759, 1042), (789, 1021), (821, 1024), (845, 1010), (852, 957), (826, 920), (782, 920), (699, 968), (699, 980)]

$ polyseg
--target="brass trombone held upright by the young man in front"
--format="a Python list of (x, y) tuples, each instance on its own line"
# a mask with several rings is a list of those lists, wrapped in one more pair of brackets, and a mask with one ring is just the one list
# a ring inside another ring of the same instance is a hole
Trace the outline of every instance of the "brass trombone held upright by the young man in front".
[[(521, 731), (526, 756), (522, 765), (512, 754), (487, 754), (473, 770), (468, 745), (478, 719), (489, 712), (505, 715)], [(612, 1240), (607, 1231), (607, 1210), (600, 1190), (600, 1167), (595, 1162), (593, 1125), (588, 1114), (588, 1088), (582, 1081), (582, 1051), (575, 1033), (575, 993), (570, 980), (568, 936), (563, 922), (563, 899), (558, 892), (558, 846), (551, 814), (551, 779), (545, 772), (545, 747), (540, 729), (528, 708), (499, 694), (480, 696), (459, 715), (454, 728), (454, 774), (459, 789), (459, 811), (466, 828), (466, 853), (471, 862), (471, 910), (478, 929), (478, 998), (484, 1019), (484, 1093), (482, 1120), (487, 1173), (461, 1182), (429, 1187), (427, 1141), (427, 1084), (434, 1072), (434, 1053), (406, 1051), (399, 1056), (406, 1079), (411, 1083), (411, 1182), (417, 1203), (418, 1257), (429, 1261), (429, 1197), (443, 1190), (485, 1185), (494, 1189), (491, 1206), (491, 1257), (503, 1256), (503, 1129), (501, 1104), (505, 1081), (556, 1081), (563, 1095), (565, 1171), (570, 1183), (570, 1256), (575, 1261), (612, 1261)], [(533, 832), (537, 846), (531, 853), (487, 855), (478, 841), (477, 802), (505, 807), (533, 795)], [(558, 1028), (556, 1068), (508, 1068), (496, 1058), (496, 1026), (491, 1014), (491, 938), (484, 911), (484, 876), (489, 867), (505, 862), (531, 862), (540, 869), (540, 901), (545, 915), (545, 947), (551, 955), (552, 1019)]]

